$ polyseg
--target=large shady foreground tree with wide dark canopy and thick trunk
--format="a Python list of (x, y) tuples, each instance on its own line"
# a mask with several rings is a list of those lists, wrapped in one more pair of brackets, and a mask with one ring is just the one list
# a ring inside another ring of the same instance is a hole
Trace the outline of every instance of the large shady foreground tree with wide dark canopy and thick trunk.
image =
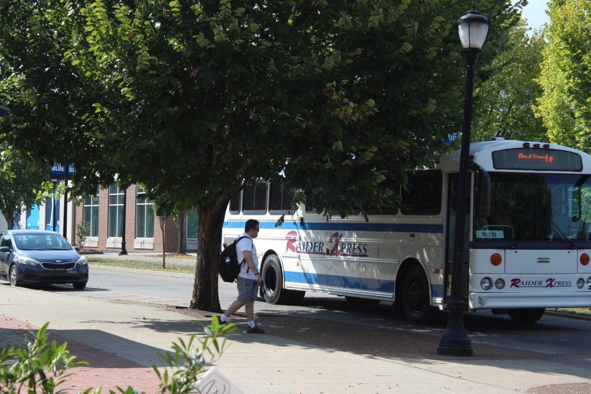
[[(496, 24), (481, 64), (521, 4), (480, 2)], [(283, 171), (321, 212), (379, 209), (444, 149), (465, 80), (454, 21), (471, 5), (0, 0), (0, 95), (13, 108), (0, 132), (40, 159), (67, 156), (76, 194), (118, 174), (164, 201), (158, 214), (194, 207), (191, 307), (219, 310), (223, 217), (243, 185)]]

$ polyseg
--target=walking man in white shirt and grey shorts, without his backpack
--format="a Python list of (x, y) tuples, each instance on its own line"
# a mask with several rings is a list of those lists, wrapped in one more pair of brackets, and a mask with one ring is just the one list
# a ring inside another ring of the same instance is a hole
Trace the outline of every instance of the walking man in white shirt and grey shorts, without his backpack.
[(236, 243), (236, 261), (242, 263), (240, 273), (236, 281), (238, 282), (238, 298), (228, 307), (226, 312), (220, 316), (220, 323), (225, 324), (234, 312), (242, 306), (246, 311), (246, 320), (249, 334), (264, 334), (265, 331), (256, 327), (254, 320), (254, 306), (258, 287), (261, 283), (261, 274), (258, 272), (258, 258), (256, 257), (256, 248), (253, 239), (258, 237), (259, 222), (255, 219), (246, 220), (244, 233), (238, 237), (245, 237)]

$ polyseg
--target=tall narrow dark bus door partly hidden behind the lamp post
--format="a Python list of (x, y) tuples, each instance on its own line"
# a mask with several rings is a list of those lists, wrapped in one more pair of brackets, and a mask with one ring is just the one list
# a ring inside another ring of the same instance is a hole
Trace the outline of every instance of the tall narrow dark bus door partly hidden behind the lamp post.
[[(458, 174), (454, 172), (448, 175), (448, 187), (447, 187), (447, 229), (446, 229), (446, 264), (444, 271), (444, 300), (445, 305), (447, 300), (452, 295), (452, 263), (453, 263), (453, 243), (456, 231), (456, 205), (457, 205), (457, 182)], [(464, 232), (464, 254), (463, 254), (463, 289), (462, 294), (464, 297), (468, 295), (468, 280), (469, 280), (469, 250), (468, 244), (470, 240), (470, 191), (472, 190), (472, 172), (469, 172), (468, 185), (466, 188), (466, 217), (465, 221), (465, 232)]]

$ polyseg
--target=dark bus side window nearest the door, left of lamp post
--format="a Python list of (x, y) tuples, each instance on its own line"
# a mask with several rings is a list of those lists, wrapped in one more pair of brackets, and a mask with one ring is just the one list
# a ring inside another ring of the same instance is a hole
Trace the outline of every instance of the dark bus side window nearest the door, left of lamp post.
[(441, 171), (408, 174), (407, 190), (402, 189), (401, 212), (405, 215), (436, 215), (441, 211)]

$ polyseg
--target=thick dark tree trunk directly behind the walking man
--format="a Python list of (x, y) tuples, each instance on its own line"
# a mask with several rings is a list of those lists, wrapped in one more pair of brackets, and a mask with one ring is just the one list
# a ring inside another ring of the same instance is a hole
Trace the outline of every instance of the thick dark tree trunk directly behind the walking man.
[(217, 260), (222, 245), (225, 204), (212, 204), (199, 209), (197, 266), (191, 308), (220, 312), (217, 294)]

